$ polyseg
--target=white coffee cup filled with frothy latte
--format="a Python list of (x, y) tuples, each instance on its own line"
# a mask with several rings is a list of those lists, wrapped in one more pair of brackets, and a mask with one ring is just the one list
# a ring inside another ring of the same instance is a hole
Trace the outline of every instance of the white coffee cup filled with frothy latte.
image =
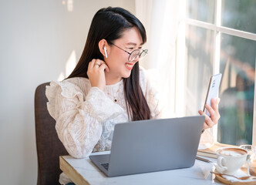
[(236, 147), (222, 147), (215, 151), (217, 154), (217, 167), (219, 173), (236, 175), (246, 161), (248, 152)]

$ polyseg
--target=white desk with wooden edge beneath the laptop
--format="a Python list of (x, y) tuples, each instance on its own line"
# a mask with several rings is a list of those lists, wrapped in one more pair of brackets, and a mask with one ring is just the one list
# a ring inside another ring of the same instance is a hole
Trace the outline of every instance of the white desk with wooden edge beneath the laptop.
[[(109, 153), (109, 152), (103, 152)], [(93, 153), (99, 154), (99, 153)], [(206, 157), (204, 157), (206, 158)], [(207, 158), (211, 161), (214, 159)], [(189, 184), (189, 185), (207, 185), (207, 184), (222, 184), (217, 180), (211, 180), (209, 174), (207, 179), (204, 179), (204, 172), (211, 170), (212, 164), (196, 160), (194, 167), (180, 170), (166, 170), (153, 173), (140, 173), (122, 177), (106, 177), (94, 164), (89, 160), (89, 157), (84, 159), (75, 159), (72, 156), (59, 157), (60, 169), (76, 183), (76, 185), (84, 184)]]

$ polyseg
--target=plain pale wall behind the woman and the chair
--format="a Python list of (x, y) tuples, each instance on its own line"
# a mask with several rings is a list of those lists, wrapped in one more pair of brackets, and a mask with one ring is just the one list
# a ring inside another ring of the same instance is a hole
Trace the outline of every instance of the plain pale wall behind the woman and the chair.
[(1, 184), (36, 184), (35, 88), (65, 75), (66, 63), (83, 51), (93, 15), (109, 5), (135, 13), (135, 0), (0, 2)]

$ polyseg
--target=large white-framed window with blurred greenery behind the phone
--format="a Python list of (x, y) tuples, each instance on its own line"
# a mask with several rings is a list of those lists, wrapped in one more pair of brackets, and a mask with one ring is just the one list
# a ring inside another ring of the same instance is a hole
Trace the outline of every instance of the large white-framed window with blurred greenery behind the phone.
[[(251, 144), (256, 60), (255, 0), (186, 0), (177, 39), (177, 115), (204, 106), (210, 76), (222, 73), (218, 142)], [(254, 139), (255, 140), (255, 139)]]

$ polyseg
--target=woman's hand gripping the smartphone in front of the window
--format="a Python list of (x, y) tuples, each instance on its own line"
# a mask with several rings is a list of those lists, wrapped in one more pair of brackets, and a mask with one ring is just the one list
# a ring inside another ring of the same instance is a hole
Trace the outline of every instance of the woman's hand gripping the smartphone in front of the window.
[(220, 103), (220, 99), (211, 99), (211, 106), (209, 106), (208, 104), (205, 105), (205, 108), (208, 110), (208, 112), (210, 113), (210, 117), (207, 116), (202, 110), (198, 110), (198, 113), (200, 115), (204, 115), (205, 116), (205, 120), (204, 120), (204, 127), (203, 129), (209, 129), (211, 127), (213, 127), (214, 125), (217, 124), (218, 120), (220, 119), (220, 113), (219, 113), (219, 109), (217, 108), (217, 105)]

